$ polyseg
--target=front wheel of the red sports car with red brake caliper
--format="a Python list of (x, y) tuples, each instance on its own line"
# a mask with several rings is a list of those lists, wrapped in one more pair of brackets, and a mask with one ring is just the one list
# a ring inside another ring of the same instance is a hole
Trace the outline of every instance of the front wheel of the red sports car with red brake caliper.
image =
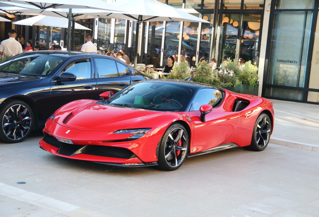
[(158, 167), (173, 171), (180, 168), (187, 157), (189, 136), (181, 124), (171, 125), (164, 133), (158, 148)]

